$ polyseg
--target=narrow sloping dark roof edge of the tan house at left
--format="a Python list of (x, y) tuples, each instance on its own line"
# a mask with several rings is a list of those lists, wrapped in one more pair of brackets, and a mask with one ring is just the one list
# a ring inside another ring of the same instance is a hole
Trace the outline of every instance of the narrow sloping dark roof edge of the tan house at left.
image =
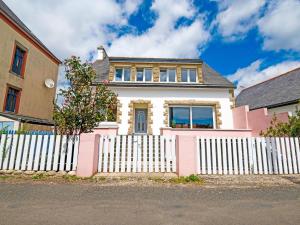
[(0, 13), (3, 13), (11, 21), (13, 21), (23, 32), (30, 36), (38, 43), (52, 58), (58, 63), (61, 61), (32, 33), (32, 31), (17, 17), (17, 15), (2, 1), (0, 0)]

